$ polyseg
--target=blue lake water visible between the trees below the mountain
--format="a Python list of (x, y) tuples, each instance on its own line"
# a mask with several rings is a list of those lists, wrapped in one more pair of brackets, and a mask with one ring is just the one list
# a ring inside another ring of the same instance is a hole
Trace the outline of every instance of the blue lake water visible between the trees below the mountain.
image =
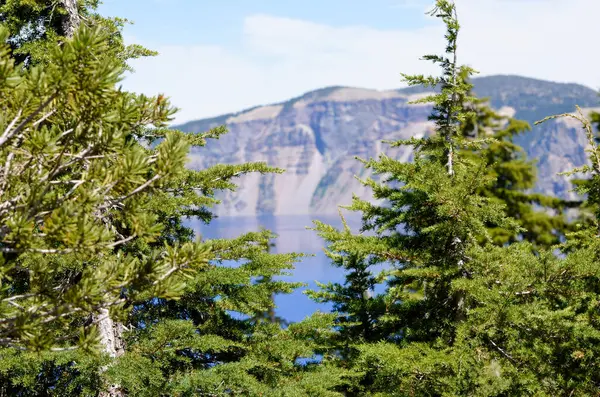
[[(344, 214), (346, 221), (352, 231), (360, 228), (360, 217), (354, 214)], [(313, 230), (306, 227), (313, 226), (313, 220), (341, 228), (342, 222), (339, 216), (258, 216), (258, 217), (223, 217), (217, 218), (209, 225), (199, 221), (189, 222), (196, 233), (204, 238), (233, 238), (240, 234), (258, 231), (261, 227), (271, 230), (278, 235), (275, 239), (275, 247), (272, 252), (276, 253), (305, 253), (315, 256), (302, 258), (296, 264), (293, 276), (284, 277), (284, 280), (307, 283), (308, 286), (296, 290), (289, 295), (278, 295), (275, 297), (277, 315), (288, 321), (299, 321), (316, 310), (329, 311), (330, 305), (318, 304), (310, 300), (302, 293), (306, 288), (316, 289), (315, 281), (336, 282), (344, 279), (343, 270), (333, 267), (329, 258), (323, 253), (324, 241)]]

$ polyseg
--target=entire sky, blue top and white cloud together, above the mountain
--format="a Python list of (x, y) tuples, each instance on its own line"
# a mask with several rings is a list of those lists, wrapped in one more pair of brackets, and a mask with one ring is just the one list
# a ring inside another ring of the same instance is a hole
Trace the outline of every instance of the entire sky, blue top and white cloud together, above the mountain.
[[(444, 49), (431, 0), (104, 0), (99, 12), (134, 22), (124, 88), (165, 94), (174, 123), (285, 101), (334, 85), (405, 86), (400, 73)], [(456, 0), (458, 62), (480, 76), (517, 74), (600, 89), (600, 0)]]

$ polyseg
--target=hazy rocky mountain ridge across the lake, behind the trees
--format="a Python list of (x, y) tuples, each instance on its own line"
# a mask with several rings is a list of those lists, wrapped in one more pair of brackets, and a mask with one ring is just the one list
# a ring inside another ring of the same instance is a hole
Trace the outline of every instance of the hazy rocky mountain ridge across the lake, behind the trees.
[[(494, 108), (533, 124), (545, 116), (572, 112), (575, 105), (598, 106), (596, 91), (519, 76), (473, 79), (479, 97)], [(194, 151), (190, 167), (216, 163), (266, 161), (284, 168), (283, 175), (248, 175), (239, 189), (221, 197), (220, 215), (329, 214), (348, 204), (355, 193), (372, 198), (355, 176), (367, 171), (354, 159), (387, 155), (410, 161), (407, 148), (390, 149), (382, 140), (408, 138), (431, 131), (429, 105), (407, 102), (431, 90), (409, 87), (377, 91), (327, 87), (286, 102), (188, 122), (175, 128), (191, 133), (227, 125), (229, 133)], [(538, 160), (536, 190), (572, 197), (570, 185), (557, 173), (585, 162), (585, 137), (577, 123), (560, 119), (520, 138), (530, 158)]]

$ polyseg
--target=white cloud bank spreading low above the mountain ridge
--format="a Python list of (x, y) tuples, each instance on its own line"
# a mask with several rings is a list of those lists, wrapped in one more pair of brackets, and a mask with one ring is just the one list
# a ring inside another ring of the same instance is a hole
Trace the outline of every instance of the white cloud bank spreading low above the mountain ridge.
[[(482, 75), (520, 74), (600, 88), (595, 50), (600, 1), (457, 0), (457, 6), (462, 26), (459, 63)], [(395, 88), (401, 86), (400, 72), (436, 72), (419, 58), (439, 53), (444, 45), (441, 23), (401, 28), (339, 28), (253, 15), (244, 21), (239, 51), (142, 42), (160, 55), (133, 62), (136, 73), (124, 85), (166, 93), (182, 108), (177, 122), (329, 85)]]

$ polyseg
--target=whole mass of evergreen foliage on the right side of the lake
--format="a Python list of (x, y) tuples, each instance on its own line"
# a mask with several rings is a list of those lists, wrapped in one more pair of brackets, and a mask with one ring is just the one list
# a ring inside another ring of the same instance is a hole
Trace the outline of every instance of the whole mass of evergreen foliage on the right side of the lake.
[[(363, 183), (384, 204), (354, 198), (361, 234), (315, 222), (346, 271), (309, 293), (338, 311), (326, 362), (354, 372), (349, 396), (594, 395), (598, 229), (568, 233), (570, 203), (527, 192), (535, 169), (512, 137), (528, 125), (471, 96), (473, 71), (455, 64), (455, 6), (438, 0), (432, 14), (447, 26), (447, 55), (425, 59), (442, 75), (404, 77), (441, 88), (418, 101), (433, 102), (435, 134), (392, 143), (412, 145), (413, 163), (362, 160), (382, 176)], [(548, 252), (565, 234), (563, 256)], [(376, 284), (384, 292), (365, 293)]]

